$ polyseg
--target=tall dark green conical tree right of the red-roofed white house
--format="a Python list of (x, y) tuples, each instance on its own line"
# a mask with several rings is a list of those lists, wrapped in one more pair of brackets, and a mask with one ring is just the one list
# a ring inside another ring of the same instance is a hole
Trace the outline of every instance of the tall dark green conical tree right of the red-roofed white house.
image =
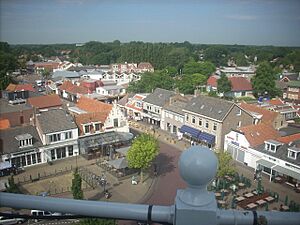
[(267, 93), (271, 98), (275, 97), (278, 94), (275, 78), (272, 67), (267, 62), (261, 63), (251, 80), (254, 96), (259, 97)]

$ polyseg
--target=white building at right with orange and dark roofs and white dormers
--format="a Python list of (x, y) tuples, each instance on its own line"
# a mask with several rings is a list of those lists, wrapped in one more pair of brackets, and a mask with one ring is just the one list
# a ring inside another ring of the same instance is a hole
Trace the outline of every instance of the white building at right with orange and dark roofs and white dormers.
[(224, 150), (234, 160), (269, 175), (281, 176), (287, 184), (300, 182), (300, 139), (280, 137), (270, 125), (242, 127), (225, 135)]

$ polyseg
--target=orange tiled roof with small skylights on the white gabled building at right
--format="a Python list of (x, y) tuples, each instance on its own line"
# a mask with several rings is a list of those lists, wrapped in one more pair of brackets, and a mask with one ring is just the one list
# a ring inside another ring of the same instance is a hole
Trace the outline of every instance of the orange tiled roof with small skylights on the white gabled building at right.
[(280, 137), (279, 131), (265, 123), (241, 127), (239, 130), (244, 133), (251, 147), (261, 145), (266, 140), (276, 140)]

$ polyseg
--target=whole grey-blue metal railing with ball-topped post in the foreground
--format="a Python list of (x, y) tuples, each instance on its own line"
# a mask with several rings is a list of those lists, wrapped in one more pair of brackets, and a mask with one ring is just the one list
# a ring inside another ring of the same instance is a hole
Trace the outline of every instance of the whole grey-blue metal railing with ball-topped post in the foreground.
[(217, 170), (217, 158), (208, 148), (192, 146), (179, 160), (188, 188), (178, 190), (174, 205), (158, 206), (0, 193), (0, 206), (40, 209), (87, 217), (148, 221), (174, 225), (299, 225), (300, 213), (224, 210), (217, 207), (207, 184)]

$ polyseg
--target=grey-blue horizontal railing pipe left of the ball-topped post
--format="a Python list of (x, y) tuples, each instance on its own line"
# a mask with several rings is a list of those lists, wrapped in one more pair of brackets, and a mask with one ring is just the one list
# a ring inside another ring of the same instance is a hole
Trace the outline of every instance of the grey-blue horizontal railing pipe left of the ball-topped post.
[(20, 195), (0, 192), (0, 206), (19, 209), (40, 209), (50, 212), (71, 213), (87, 217), (102, 217), (125, 220), (139, 220), (172, 224), (172, 206), (149, 206), (102, 201), (86, 201)]

